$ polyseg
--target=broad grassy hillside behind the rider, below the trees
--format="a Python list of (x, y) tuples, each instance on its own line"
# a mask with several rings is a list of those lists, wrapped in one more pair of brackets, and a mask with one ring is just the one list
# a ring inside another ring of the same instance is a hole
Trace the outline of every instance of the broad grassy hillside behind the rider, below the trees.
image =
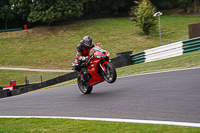
[[(187, 39), (188, 24), (199, 21), (199, 16), (162, 16), (163, 44)], [(136, 53), (160, 45), (158, 30), (147, 38), (128, 17), (75, 21), (68, 25), (0, 33), (0, 66), (69, 69), (76, 46), (85, 35), (100, 42), (111, 53), (111, 58), (118, 52)]]

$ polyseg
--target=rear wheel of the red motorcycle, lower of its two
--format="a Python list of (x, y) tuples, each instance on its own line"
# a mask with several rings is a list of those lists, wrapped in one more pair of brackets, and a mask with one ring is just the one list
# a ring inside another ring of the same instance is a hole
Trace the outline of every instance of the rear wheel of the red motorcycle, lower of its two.
[(77, 84), (78, 84), (78, 88), (80, 89), (80, 91), (83, 94), (90, 94), (92, 92), (93, 86), (89, 87), (87, 82), (83, 83), (81, 81), (81, 76), (80, 75), (77, 78)]

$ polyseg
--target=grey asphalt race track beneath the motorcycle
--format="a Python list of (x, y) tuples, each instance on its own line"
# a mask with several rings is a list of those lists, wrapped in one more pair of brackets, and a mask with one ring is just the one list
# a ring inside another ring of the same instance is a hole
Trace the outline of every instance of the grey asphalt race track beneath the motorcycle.
[(200, 123), (200, 68), (118, 78), (83, 95), (69, 85), (0, 99), (0, 116), (64, 116)]

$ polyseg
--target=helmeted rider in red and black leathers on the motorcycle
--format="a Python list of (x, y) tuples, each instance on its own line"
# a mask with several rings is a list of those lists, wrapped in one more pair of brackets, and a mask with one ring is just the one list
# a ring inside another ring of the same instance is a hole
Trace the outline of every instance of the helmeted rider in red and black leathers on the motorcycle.
[(75, 58), (75, 70), (81, 71), (82, 63), (89, 56), (90, 50), (94, 47), (92, 43), (92, 38), (90, 36), (83, 37), (83, 40), (77, 45), (77, 53)]

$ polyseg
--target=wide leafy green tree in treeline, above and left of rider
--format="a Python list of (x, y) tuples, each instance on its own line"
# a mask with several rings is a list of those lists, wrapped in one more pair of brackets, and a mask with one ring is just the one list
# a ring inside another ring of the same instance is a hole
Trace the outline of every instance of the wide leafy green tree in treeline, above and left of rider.
[(50, 26), (53, 21), (80, 17), (83, 3), (87, 0), (33, 0), (30, 5), (29, 22), (44, 22)]

